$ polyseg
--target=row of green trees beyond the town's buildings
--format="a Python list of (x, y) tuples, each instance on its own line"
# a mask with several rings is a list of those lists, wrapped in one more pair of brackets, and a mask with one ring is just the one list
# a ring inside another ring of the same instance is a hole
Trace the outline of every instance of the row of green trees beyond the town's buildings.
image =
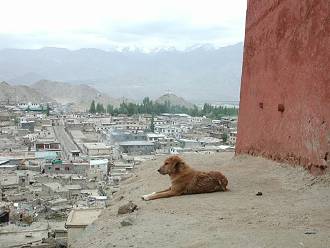
[(113, 107), (113, 105), (110, 104), (108, 104), (107, 107), (104, 107), (102, 103), (95, 104), (95, 101), (93, 100), (89, 107), (89, 113), (108, 113), (112, 116), (118, 116), (118, 114), (132, 116), (133, 114), (158, 115), (161, 113), (183, 113), (189, 114), (190, 116), (206, 116), (215, 119), (221, 118), (222, 116), (236, 116), (239, 114), (239, 109), (236, 107), (217, 107), (208, 103), (205, 103), (202, 109), (198, 109), (197, 106), (194, 108), (188, 108), (180, 105), (170, 105), (170, 101), (165, 101), (165, 103), (153, 102), (146, 97), (141, 104), (123, 102), (120, 104), (120, 107)]

